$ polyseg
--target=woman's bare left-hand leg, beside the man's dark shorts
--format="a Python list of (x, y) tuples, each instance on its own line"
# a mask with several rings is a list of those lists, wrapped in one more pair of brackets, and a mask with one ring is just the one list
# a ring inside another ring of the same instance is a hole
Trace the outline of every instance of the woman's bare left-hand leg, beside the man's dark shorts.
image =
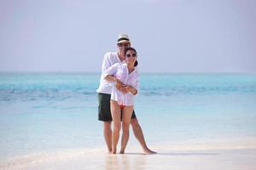
[(110, 101), (111, 116), (113, 119), (113, 133), (112, 133), (112, 153), (116, 154), (116, 147), (119, 142), (119, 132), (121, 129), (121, 111), (116, 101)]

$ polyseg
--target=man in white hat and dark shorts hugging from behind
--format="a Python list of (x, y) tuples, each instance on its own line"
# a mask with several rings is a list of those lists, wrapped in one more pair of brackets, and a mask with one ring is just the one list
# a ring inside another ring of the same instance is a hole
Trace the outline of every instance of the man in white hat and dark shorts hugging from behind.
[[(130, 39), (125, 34), (120, 34), (117, 42), (118, 52), (107, 53), (104, 55), (102, 62), (102, 77), (99, 88), (96, 90), (99, 99), (99, 121), (103, 122), (104, 139), (108, 146), (108, 153), (112, 152), (112, 129), (111, 129), (111, 112), (110, 112), (110, 97), (112, 84), (104, 79), (104, 72), (115, 63), (125, 62), (125, 48), (131, 47)], [(124, 91), (125, 93), (125, 91)], [(143, 148), (145, 154), (155, 154), (156, 152), (149, 150), (145, 142), (142, 127), (137, 121), (135, 112), (131, 116), (131, 127), (133, 133)], [(123, 142), (123, 141), (121, 141)]]

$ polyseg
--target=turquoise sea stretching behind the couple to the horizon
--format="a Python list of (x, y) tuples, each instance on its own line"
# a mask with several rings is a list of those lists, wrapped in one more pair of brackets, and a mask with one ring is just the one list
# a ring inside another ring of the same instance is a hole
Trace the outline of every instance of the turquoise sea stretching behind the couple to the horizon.
[[(0, 160), (105, 147), (97, 121), (99, 79), (99, 73), (1, 73)], [(135, 111), (153, 148), (255, 139), (256, 75), (141, 74)], [(129, 144), (139, 145), (132, 133)]]

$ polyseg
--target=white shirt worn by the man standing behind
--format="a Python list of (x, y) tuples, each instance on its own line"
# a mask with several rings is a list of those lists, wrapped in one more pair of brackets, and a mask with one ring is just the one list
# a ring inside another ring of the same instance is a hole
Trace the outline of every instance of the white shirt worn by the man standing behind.
[(101, 82), (99, 88), (96, 90), (97, 93), (102, 93), (102, 94), (111, 94), (112, 92), (112, 87), (113, 83), (108, 82), (104, 78), (104, 72), (108, 70), (108, 68), (116, 63), (122, 63), (121, 60), (119, 59), (119, 55), (117, 52), (113, 53), (106, 53), (104, 55), (104, 59), (102, 62), (102, 76), (101, 76)]

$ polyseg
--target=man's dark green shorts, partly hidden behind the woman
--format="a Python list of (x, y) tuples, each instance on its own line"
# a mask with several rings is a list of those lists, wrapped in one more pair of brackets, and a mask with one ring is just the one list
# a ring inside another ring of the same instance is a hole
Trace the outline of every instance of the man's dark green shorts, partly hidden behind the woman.
[[(111, 94), (98, 94), (98, 119), (102, 122), (112, 122), (110, 111), (110, 97)], [(132, 111), (131, 119), (136, 118), (134, 110)]]

